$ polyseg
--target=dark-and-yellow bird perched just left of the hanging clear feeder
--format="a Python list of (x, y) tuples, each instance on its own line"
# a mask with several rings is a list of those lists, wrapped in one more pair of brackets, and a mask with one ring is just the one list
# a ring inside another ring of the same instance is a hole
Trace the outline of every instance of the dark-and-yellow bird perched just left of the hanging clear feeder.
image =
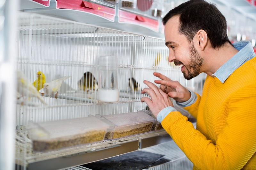
[(98, 82), (90, 71), (85, 72), (84, 76), (78, 81), (78, 89), (86, 92), (98, 90)]

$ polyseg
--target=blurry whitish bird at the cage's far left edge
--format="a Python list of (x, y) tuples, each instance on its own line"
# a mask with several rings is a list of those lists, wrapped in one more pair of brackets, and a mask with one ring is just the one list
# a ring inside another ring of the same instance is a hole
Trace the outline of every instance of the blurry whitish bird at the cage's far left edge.
[(30, 97), (36, 97), (43, 104), (47, 105), (44, 98), (39, 94), (36, 87), (28, 81), (25, 75), (21, 71), (17, 71), (17, 97), (18, 95)]

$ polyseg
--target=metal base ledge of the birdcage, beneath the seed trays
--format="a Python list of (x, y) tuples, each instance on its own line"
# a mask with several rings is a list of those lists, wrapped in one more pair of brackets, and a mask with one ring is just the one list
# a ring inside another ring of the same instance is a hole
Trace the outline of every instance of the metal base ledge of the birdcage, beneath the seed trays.
[[(165, 130), (125, 137), (113, 141), (69, 147), (50, 152), (33, 152), (25, 130), (16, 131), (16, 164), (29, 170), (54, 170), (111, 158), (148, 146), (171, 141)], [(151, 141), (151, 142), (150, 142)]]

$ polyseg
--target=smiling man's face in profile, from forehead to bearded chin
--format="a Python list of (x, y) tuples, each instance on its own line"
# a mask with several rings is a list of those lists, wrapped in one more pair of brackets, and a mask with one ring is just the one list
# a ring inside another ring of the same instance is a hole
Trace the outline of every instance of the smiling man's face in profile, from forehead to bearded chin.
[(190, 80), (200, 74), (203, 58), (184, 35), (179, 33), (179, 16), (174, 16), (164, 28), (165, 44), (169, 48), (169, 62), (181, 67), (184, 78)]

